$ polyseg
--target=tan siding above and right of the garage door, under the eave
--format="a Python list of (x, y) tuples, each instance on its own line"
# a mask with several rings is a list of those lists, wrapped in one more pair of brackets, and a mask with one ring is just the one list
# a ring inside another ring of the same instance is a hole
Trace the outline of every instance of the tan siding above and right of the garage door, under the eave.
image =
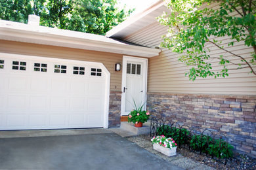
[(115, 63), (122, 62), (121, 54), (2, 40), (0, 40), (0, 52), (100, 62), (110, 71), (110, 90), (121, 91), (121, 71), (115, 71)]

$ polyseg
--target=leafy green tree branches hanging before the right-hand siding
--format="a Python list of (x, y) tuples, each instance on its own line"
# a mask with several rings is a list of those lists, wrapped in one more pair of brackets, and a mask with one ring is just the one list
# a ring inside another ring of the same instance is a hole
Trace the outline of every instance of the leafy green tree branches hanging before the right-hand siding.
[[(207, 6), (212, 3), (219, 3), (219, 9)], [(161, 46), (181, 54), (179, 61), (190, 67), (186, 73), (190, 80), (207, 76), (225, 77), (230, 69), (249, 68), (250, 73), (256, 75), (253, 70), (253, 65), (256, 64), (255, 1), (171, 0), (167, 7), (170, 12), (158, 18), (161, 24), (169, 27)], [(226, 36), (230, 41), (224, 47), (217, 39)], [(253, 48), (249, 61), (228, 50), (228, 46), (235, 46), (238, 42)], [(211, 56), (209, 46), (216, 46), (228, 55)], [(239, 59), (240, 62), (233, 62), (234, 59)], [(215, 61), (219, 61), (221, 69), (213, 69)], [(236, 67), (231, 68), (229, 65)]]

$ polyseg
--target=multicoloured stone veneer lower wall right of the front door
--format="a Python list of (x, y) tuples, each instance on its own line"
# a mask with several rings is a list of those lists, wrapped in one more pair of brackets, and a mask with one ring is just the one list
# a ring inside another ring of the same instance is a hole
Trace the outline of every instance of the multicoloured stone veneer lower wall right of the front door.
[(224, 133), (238, 152), (256, 157), (256, 96), (148, 93), (155, 116)]

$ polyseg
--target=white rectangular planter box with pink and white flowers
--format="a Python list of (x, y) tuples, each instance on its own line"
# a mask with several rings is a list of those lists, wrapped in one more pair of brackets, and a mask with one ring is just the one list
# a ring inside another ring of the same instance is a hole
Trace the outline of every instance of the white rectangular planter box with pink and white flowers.
[(171, 137), (167, 138), (164, 135), (161, 135), (153, 137), (151, 141), (153, 143), (154, 150), (157, 150), (166, 156), (176, 155), (177, 143), (175, 143)]

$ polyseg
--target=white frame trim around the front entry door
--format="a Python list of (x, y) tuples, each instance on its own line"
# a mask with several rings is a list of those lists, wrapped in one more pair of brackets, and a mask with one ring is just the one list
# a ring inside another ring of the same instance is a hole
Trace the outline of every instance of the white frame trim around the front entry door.
[(147, 82), (148, 82), (148, 59), (147, 58), (137, 58), (132, 56), (123, 56), (123, 68), (122, 68), (122, 86), (121, 86), (121, 116), (125, 116), (125, 93), (123, 93), (123, 88), (126, 86), (126, 69), (127, 69), (127, 61), (135, 61), (135, 62), (142, 62), (144, 63), (144, 82), (143, 82), (143, 90), (145, 105), (144, 110), (146, 110), (146, 93), (147, 93)]

